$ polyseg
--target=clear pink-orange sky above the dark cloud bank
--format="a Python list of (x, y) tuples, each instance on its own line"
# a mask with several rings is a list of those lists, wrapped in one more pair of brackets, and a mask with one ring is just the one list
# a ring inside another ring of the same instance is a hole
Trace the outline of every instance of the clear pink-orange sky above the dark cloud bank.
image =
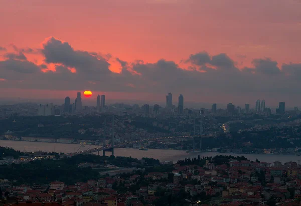
[(163, 58), (181, 66), (206, 51), (226, 53), (240, 69), (266, 57), (280, 67), (301, 63), (300, 11), (298, 0), (2, 0), (0, 46), (41, 48), (54, 36), (127, 62)]

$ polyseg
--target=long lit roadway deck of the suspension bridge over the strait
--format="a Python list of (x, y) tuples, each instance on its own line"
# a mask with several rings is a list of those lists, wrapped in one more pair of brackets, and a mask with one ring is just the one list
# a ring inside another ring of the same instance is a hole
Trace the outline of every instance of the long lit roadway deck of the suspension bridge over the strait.
[(213, 136), (194, 135), (194, 136), (173, 136), (173, 137), (159, 137), (159, 138), (153, 138), (153, 139), (143, 139), (143, 140), (139, 140), (139, 141), (127, 142), (127, 143), (124, 143), (124, 144), (119, 144), (119, 145), (114, 145), (114, 146), (107, 145), (105, 147), (96, 147), (96, 148), (93, 148), (93, 149), (78, 151), (78, 152), (74, 152), (74, 153), (68, 153), (65, 156), (76, 156), (76, 155), (79, 155), (79, 154), (90, 154), (90, 153), (99, 152), (99, 151), (110, 151), (114, 148), (119, 148), (119, 147), (125, 146), (127, 144), (135, 144), (135, 143), (140, 143), (140, 142), (144, 142), (144, 141), (176, 139), (176, 138), (208, 138), (208, 137), (212, 138)]

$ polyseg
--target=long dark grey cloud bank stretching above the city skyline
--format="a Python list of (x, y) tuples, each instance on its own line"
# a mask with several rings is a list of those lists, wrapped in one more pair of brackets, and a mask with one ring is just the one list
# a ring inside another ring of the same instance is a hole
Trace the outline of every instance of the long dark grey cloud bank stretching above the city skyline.
[[(8, 59), (0, 61), (0, 79), (7, 80), (1, 82), (2, 88), (89, 88), (107, 92), (159, 93), (163, 96), (167, 92), (177, 92), (200, 98), (206, 98), (208, 94), (246, 97), (289, 94), (298, 97), (301, 89), (301, 64), (283, 64), (280, 69), (277, 61), (269, 58), (254, 59), (252, 67), (240, 69), (227, 54), (209, 55), (203, 51), (189, 55), (182, 62), (195, 68), (187, 70), (174, 61), (164, 59), (154, 63), (142, 60), (126, 62), (113, 55), (75, 50), (68, 42), (54, 37), (43, 42), (41, 54), (45, 58), (44, 64), (36, 65), (21, 58), (21, 54), (8, 53)], [(109, 70), (108, 60), (111, 58), (120, 63), (120, 73)], [(48, 70), (49, 65), (54, 65), (55, 70)]]

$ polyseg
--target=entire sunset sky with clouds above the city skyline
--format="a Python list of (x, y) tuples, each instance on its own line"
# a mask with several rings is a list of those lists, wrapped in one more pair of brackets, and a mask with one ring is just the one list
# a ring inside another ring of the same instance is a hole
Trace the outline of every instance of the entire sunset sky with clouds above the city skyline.
[(1, 0), (0, 98), (301, 105), (299, 0)]

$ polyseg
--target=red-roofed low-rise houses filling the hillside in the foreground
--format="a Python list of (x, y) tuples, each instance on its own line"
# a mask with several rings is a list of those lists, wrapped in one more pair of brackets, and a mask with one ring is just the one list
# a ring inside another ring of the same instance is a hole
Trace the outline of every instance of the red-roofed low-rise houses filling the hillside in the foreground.
[[(171, 173), (147, 173), (145, 169), (134, 168), (127, 177), (118, 174), (75, 185), (55, 181), (49, 185), (11, 186), (10, 182), (1, 180), (1, 186), (6, 190), (4, 196), (11, 200), (5, 205), (11, 206), (50, 205), (49, 202), (70, 206), (156, 205), (159, 190), (172, 197), (181, 192), (190, 198), (202, 194), (209, 197), (210, 205), (272, 205), (271, 200), (276, 205), (300, 205), (301, 166), (296, 162), (283, 165), (230, 159), (227, 164), (218, 165), (209, 159), (203, 167), (183, 164), (175, 164)], [(137, 183), (141, 178), (147, 186)], [(118, 192), (121, 185), (126, 188), (123, 193)], [(132, 191), (133, 186), (137, 190)], [(207, 205), (200, 201), (198, 205)]]

